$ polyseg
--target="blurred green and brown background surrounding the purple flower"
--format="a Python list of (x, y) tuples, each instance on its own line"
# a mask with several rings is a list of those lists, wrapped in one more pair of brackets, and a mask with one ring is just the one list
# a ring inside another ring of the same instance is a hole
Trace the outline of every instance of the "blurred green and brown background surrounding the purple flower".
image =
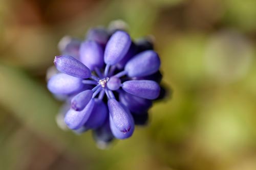
[[(115, 19), (155, 36), (173, 94), (99, 150), (57, 127), (46, 70), (61, 37)], [(255, 0), (1, 0), (0, 169), (256, 169)]]

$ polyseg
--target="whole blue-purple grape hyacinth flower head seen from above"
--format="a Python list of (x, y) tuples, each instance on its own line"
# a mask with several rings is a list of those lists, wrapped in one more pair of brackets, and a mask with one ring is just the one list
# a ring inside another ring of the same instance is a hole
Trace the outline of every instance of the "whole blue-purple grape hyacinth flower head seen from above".
[(109, 32), (91, 29), (82, 42), (63, 38), (62, 55), (54, 59), (58, 72), (48, 81), (48, 89), (66, 100), (61, 115), (67, 127), (76, 133), (92, 129), (101, 145), (131, 137), (163, 91), (152, 43), (133, 42), (119, 29)]

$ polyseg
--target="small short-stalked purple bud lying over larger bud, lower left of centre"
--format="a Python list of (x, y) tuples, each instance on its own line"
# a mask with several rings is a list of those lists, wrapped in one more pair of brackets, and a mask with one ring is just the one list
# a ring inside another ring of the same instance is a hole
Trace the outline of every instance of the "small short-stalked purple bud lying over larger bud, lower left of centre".
[(82, 91), (71, 100), (71, 108), (75, 111), (81, 111), (90, 102), (93, 96), (92, 90)]

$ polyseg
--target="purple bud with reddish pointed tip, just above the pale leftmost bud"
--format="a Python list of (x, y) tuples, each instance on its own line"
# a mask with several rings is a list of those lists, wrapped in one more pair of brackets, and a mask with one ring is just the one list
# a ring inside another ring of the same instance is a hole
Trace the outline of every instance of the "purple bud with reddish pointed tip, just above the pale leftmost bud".
[(77, 59), (68, 56), (56, 56), (54, 59), (56, 68), (67, 75), (78, 77), (81, 79), (87, 79), (91, 77), (90, 69)]

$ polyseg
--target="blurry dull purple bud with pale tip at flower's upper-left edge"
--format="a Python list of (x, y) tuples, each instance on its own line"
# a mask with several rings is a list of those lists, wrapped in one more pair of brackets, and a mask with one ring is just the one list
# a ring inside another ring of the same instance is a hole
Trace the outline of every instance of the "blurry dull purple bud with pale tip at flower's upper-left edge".
[(58, 47), (62, 55), (69, 55), (78, 59), (80, 44), (80, 40), (70, 36), (65, 36), (59, 41)]

